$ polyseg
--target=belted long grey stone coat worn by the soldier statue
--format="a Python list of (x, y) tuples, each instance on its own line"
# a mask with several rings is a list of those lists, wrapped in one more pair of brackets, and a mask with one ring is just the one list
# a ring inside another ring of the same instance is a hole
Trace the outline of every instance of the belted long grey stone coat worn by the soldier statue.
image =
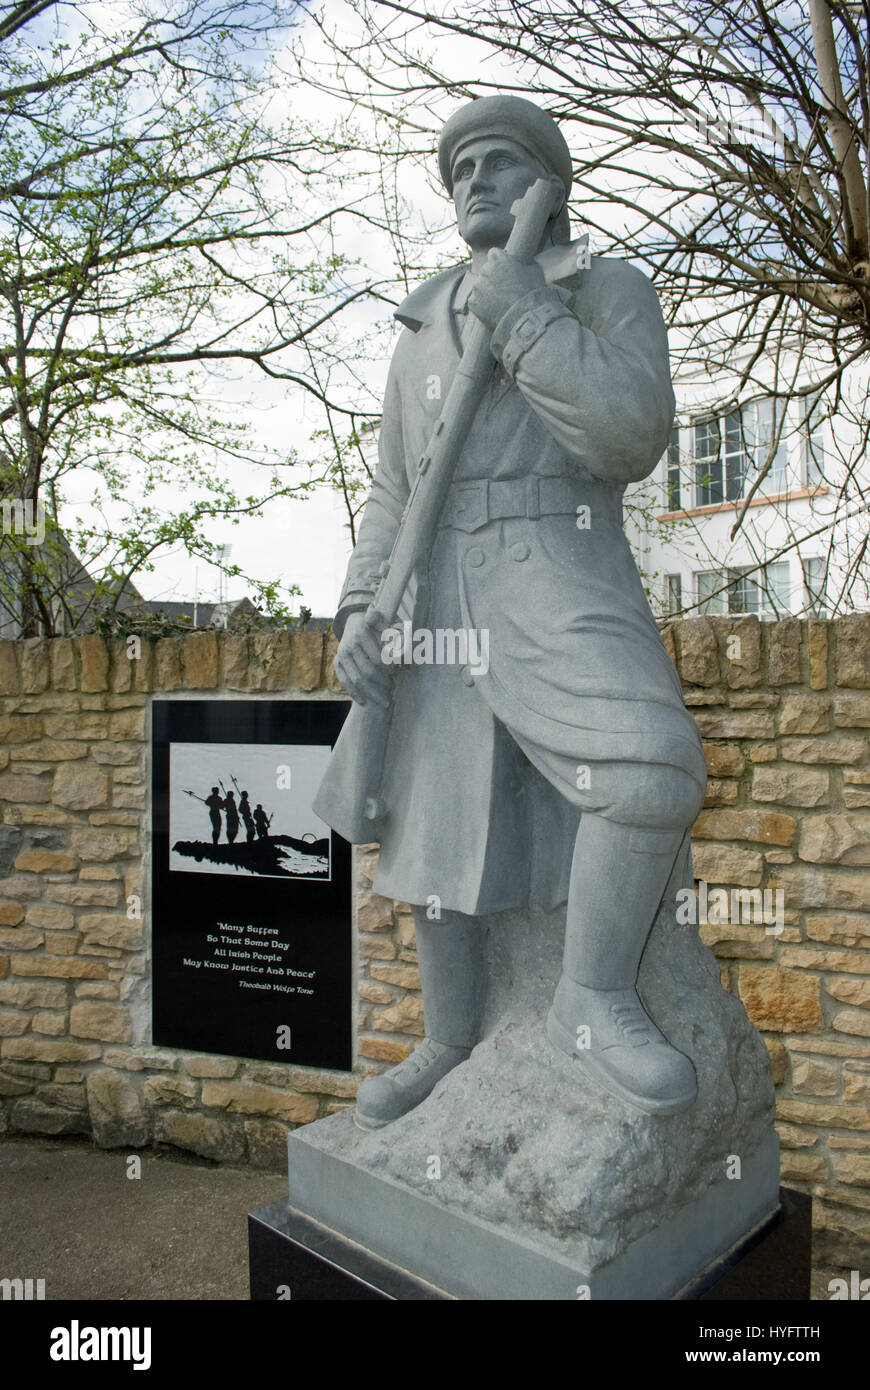
[[(493, 334), (484, 402), (406, 595), (410, 631), (477, 632), (488, 660), (399, 667), (381, 788), (377, 891), (467, 913), (564, 901), (580, 815), (602, 809), (580, 769), (618, 764), (628, 803), (641, 764), (706, 778), (621, 527), (625, 484), (653, 470), (673, 423), (659, 302), (623, 261), (578, 270), (561, 247), (541, 263), (548, 286)], [(466, 267), (443, 271), (396, 313), (406, 331), (339, 635), (391, 553), (460, 359), (468, 288)], [(360, 728), (354, 709), (315, 801), (356, 841), (375, 838), (347, 815)]]

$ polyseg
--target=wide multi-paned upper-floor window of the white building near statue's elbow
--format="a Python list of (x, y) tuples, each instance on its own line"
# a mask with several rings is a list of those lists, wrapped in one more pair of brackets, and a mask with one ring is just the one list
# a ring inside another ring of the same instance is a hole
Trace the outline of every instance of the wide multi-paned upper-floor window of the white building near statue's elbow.
[(756, 471), (764, 467), (771, 452), (763, 492), (785, 491), (788, 455), (782, 409), (774, 396), (766, 396), (727, 416), (695, 421), (695, 506), (737, 502), (752, 486)]

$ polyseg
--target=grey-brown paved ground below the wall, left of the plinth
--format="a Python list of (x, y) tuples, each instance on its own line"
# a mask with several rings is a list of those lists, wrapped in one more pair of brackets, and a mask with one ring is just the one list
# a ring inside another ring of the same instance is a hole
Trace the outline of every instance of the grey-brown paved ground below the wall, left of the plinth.
[(247, 1298), (247, 1213), (286, 1177), (86, 1140), (0, 1140), (0, 1279), (46, 1300)]

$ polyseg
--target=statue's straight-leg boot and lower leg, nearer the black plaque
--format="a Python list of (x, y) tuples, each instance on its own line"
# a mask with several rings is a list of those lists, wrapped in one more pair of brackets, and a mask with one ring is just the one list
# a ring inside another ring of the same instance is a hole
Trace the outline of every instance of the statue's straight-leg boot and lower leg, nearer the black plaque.
[(381, 1129), (413, 1111), (479, 1037), (484, 927), (460, 912), (429, 922), (422, 908), (414, 908), (414, 926), (427, 1036), (399, 1066), (363, 1081), (353, 1116), (360, 1129)]

